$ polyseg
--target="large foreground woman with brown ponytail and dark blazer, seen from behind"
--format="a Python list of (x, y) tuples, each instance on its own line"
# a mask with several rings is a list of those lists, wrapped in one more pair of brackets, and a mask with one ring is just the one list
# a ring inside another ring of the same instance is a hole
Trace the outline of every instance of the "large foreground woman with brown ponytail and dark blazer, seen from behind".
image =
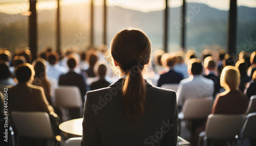
[(87, 92), (81, 145), (177, 145), (176, 92), (142, 76), (151, 59), (148, 37), (138, 29), (122, 30), (109, 56), (121, 79)]

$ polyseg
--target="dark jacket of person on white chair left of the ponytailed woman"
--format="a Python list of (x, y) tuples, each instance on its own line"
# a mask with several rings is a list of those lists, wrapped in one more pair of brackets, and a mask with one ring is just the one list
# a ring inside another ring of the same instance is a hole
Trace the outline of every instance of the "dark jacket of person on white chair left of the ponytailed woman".
[(59, 76), (59, 85), (77, 86), (80, 90), (82, 101), (84, 95), (86, 95), (86, 78), (75, 71), (69, 71), (67, 74)]

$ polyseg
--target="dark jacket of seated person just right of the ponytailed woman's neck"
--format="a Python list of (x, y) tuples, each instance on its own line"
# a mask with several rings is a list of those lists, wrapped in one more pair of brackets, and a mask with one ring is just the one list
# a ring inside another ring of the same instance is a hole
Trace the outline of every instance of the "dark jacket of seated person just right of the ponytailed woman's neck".
[(170, 69), (165, 74), (160, 75), (157, 86), (161, 87), (163, 84), (179, 84), (182, 79), (182, 74), (176, 72), (173, 69)]

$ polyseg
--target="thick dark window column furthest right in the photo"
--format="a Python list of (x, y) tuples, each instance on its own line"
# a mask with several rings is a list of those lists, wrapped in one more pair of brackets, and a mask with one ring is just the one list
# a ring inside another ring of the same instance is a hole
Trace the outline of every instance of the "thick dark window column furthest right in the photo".
[(237, 53), (237, 0), (230, 0), (228, 13), (227, 52), (230, 55)]

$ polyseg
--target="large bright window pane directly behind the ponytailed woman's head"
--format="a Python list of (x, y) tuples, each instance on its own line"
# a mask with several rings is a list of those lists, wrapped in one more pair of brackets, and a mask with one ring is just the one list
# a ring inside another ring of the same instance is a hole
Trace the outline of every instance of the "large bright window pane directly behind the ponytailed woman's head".
[[(107, 3), (107, 43), (122, 29), (142, 29), (153, 44), (153, 52), (163, 48), (165, 1), (109, 0)], [(142, 7), (143, 6), (143, 7)]]

